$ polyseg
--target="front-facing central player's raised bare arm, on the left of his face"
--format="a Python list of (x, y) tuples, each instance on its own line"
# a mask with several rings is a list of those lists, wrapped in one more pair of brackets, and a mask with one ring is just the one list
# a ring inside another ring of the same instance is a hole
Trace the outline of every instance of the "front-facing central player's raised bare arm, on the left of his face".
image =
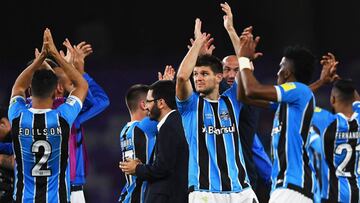
[(201, 33), (201, 21), (197, 18), (195, 20), (195, 41), (181, 62), (176, 75), (176, 97), (180, 100), (186, 100), (193, 92), (190, 76), (205, 40), (206, 33)]

